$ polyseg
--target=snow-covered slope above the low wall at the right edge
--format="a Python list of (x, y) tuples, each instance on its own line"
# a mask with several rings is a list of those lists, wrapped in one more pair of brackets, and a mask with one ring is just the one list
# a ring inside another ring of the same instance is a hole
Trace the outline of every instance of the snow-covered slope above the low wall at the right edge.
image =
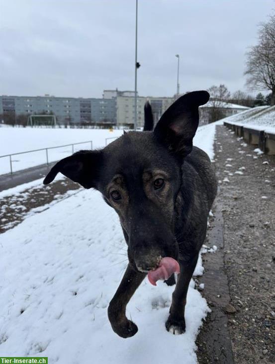
[(275, 132), (275, 106), (259, 106), (222, 119), (222, 121), (246, 125)]

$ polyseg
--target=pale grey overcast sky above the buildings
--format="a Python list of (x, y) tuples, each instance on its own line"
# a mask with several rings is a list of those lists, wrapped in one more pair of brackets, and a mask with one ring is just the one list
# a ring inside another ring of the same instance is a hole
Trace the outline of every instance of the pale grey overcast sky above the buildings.
[[(139, 0), (138, 92), (245, 89), (245, 52), (275, 0)], [(0, 94), (134, 89), (135, 0), (0, 0)]]

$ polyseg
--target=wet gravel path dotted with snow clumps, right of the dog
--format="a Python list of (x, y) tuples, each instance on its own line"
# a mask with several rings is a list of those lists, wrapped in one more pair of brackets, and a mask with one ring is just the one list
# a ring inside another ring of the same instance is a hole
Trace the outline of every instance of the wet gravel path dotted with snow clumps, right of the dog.
[[(203, 344), (211, 340), (213, 347), (224, 344), (215, 342), (219, 330), (229, 334), (236, 364), (275, 363), (275, 157), (258, 155), (254, 149), (225, 127), (217, 127), (220, 187), (214, 208), (222, 213), (224, 238), (220, 250), (224, 262), (217, 274), (227, 275), (230, 306), (224, 302), (226, 290), (219, 294), (216, 288), (214, 293), (205, 290), (207, 300), (214, 301), (213, 312), (219, 308), (227, 317), (222, 328), (212, 330), (212, 339), (207, 334), (214, 318), (210, 315), (204, 325), (197, 340), (201, 364), (224, 363), (218, 356), (211, 360), (203, 354)], [(214, 215), (215, 225), (216, 211)], [(216, 258), (204, 257), (207, 274)]]

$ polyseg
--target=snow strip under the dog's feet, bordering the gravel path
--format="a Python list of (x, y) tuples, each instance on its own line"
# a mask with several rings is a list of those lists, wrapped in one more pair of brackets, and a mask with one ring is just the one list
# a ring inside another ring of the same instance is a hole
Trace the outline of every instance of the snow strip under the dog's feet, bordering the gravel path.
[[(210, 158), (214, 133), (210, 124), (196, 135)], [(1, 234), (0, 250), (1, 356), (47, 356), (60, 364), (197, 363), (195, 337), (209, 309), (193, 280), (183, 335), (165, 329), (174, 287), (162, 281), (154, 287), (147, 278), (127, 306), (138, 333), (128, 339), (113, 333), (107, 306), (127, 265), (126, 244), (97, 191), (80, 189), (30, 215)], [(202, 272), (200, 258), (195, 273)]]

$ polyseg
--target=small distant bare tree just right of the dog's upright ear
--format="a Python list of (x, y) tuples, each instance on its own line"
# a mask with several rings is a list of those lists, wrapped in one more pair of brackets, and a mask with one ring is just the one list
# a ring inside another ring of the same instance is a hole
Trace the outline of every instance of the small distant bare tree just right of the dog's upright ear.
[(210, 93), (208, 121), (214, 122), (225, 117), (223, 108), (230, 97), (230, 92), (225, 85), (211, 86), (207, 91)]

